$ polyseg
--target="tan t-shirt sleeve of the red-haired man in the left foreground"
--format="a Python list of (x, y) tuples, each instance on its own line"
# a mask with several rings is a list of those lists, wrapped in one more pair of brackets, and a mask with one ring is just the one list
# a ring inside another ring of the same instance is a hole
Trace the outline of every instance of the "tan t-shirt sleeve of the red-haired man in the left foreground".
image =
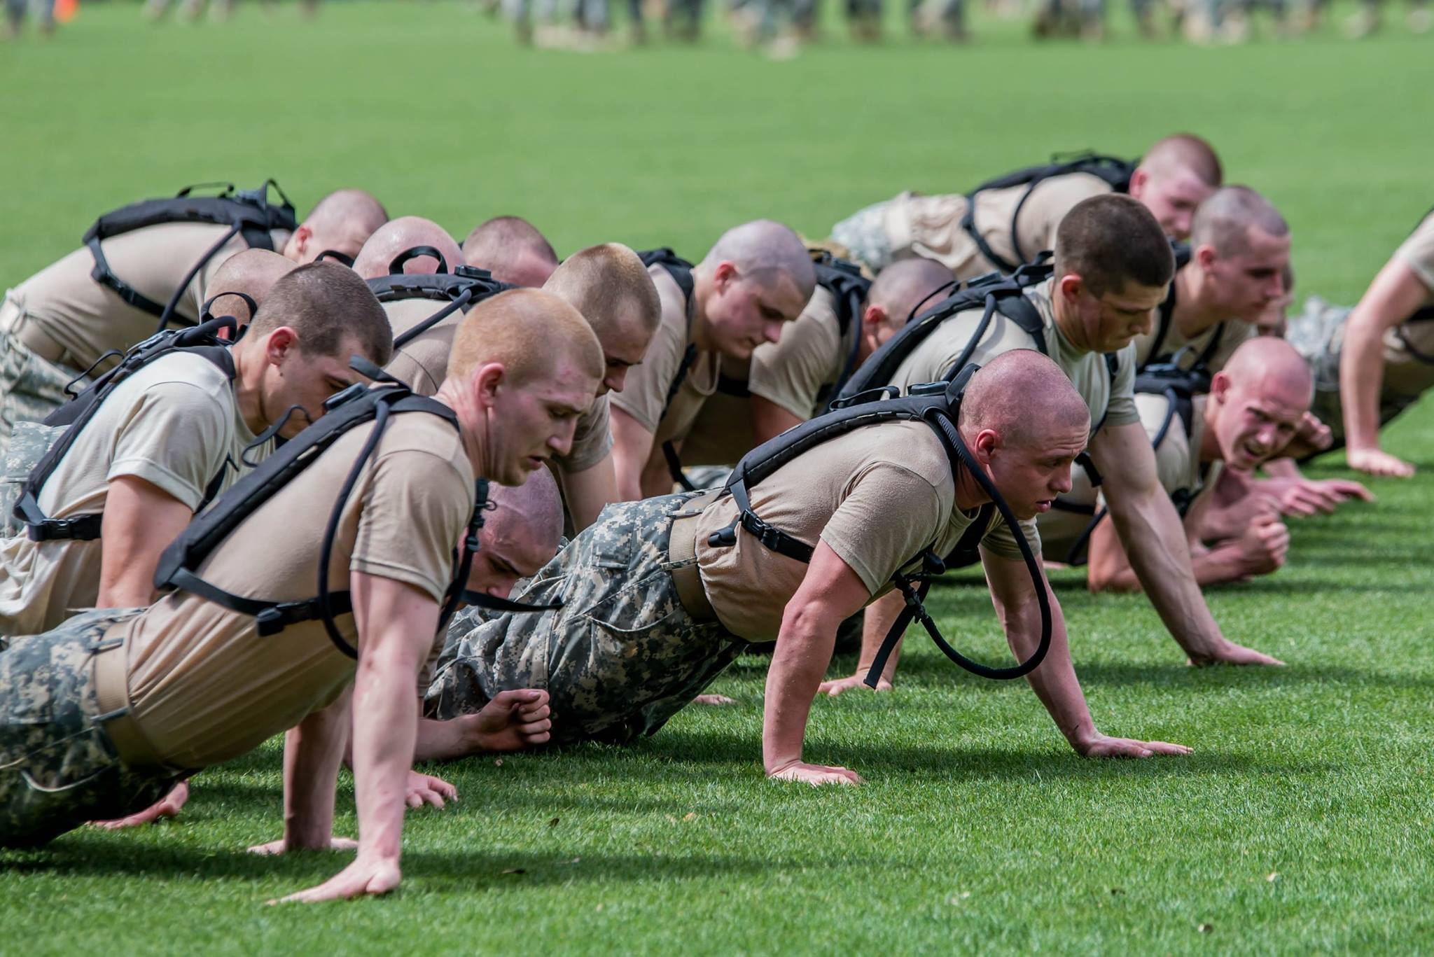
[(473, 484), (419, 449), (380, 455), (364, 489), (350, 571), (393, 578), (443, 601), (453, 550), (473, 514)]

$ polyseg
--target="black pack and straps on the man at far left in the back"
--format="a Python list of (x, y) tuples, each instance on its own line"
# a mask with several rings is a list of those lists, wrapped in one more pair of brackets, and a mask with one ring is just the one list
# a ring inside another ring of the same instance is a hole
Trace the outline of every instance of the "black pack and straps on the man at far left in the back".
[[(195, 189), (212, 185), (221, 185), (224, 189), (217, 195), (194, 195)], [(268, 198), (271, 187), (280, 197), (278, 204), (271, 202)], [(169, 222), (209, 222), (215, 225), (227, 225), (229, 230), (224, 234), (219, 242), (215, 242), (209, 250), (206, 250), (189, 268), (169, 303), (162, 304), (142, 294), (139, 290), (125, 283), (120, 277), (115, 275), (115, 271), (109, 267), (109, 261), (105, 258), (105, 250), (100, 244), (116, 235)], [(175, 306), (178, 306), (179, 298), (184, 297), (184, 290), (189, 287), (194, 277), (199, 274), (205, 264), (208, 264), (208, 261), (212, 260), (229, 240), (242, 234), (244, 241), (248, 242), (251, 248), (272, 250), (274, 242), (270, 237), (272, 230), (293, 231), (297, 228), (298, 221), (294, 215), (294, 205), (288, 201), (288, 197), (284, 195), (284, 191), (278, 188), (278, 184), (272, 179), (267, 179), (262, 187), (252, 191), (235, 191), (234, 184), (201, 184), (199, 187), (185, 187), (171, 199), (143, 199), (141, 202), (133, 202), (128, 207), (106, 212), (98, 218), (85, 232), (82, 241), (86, 247), (89, 247), (90, 254), (95, 258), (95, 268), (90, 270), (90, 278), (110, 288), (133, 308), (143, 310), (158, 317), (161, 320), (159, 329), (163, 330), (171, 321), (181, 321), (186, 326), (194, 326), (196, 323), (196, 320), (186, 319), (184, 316), (176, 319)]]

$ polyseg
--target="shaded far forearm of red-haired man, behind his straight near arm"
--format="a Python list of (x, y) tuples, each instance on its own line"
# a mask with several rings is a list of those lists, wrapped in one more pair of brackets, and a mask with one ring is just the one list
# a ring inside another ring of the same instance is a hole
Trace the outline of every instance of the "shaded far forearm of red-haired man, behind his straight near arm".
[(351, 689), (284, 735), (284, 844), (327, 848), (334, 829), (334, 786), (348, 745)]

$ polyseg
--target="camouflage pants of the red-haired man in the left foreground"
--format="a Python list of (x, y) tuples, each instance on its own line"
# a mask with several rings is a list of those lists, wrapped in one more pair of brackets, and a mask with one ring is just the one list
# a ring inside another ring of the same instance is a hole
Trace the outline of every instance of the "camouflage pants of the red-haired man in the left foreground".
[(184, 776), (129, 768), (95, 723), (95, 649), (141, 611), (86, 611), (0, 651), (0, 847), (39, 847), (86, 821), (133, 814)]

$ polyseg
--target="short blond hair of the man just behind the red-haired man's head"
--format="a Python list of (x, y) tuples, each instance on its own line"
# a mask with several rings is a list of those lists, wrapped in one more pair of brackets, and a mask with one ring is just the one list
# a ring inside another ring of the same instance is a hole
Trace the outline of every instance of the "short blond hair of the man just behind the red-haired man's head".
[(579, 250), (543, 283), (543, 291), (564, 300), (588, 320), (601, 340), (631, 319), (651, 336), (663, 319), (663, 301), (637, 253), (621, 242)]

